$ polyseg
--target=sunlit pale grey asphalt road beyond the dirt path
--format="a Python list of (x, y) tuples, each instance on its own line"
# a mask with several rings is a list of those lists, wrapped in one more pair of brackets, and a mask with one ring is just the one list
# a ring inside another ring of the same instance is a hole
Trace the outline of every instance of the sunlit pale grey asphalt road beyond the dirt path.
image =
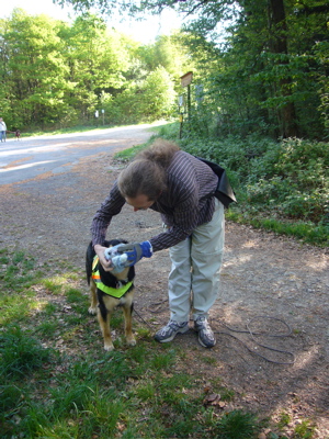
[(155, 125), (132, 125), (55, 136), (24, 136), (0, 143), (0, 185), (20, 183), (45, 172), (70, 170), (81, 158), (146, 142)]

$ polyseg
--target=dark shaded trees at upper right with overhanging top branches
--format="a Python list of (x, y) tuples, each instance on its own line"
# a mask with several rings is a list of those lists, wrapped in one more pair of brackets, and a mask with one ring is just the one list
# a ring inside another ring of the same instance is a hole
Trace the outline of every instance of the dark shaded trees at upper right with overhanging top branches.
[[(93, 5), (104, 13), (110, 13), (114, 4), (113, 0), (68, 1), (77, 9)], [(115, 4), (132, 14), (174, 8), (188, 16), (196, 16), (189, 30), (217, 44), (218, 64), (224, 63), (217, 75), (209, 69), (203, 78), (208, 83), (208, 93), (215, 97), (217, 92), (219, 97), (217, 106), (220, 106), (222, 120), (232, 121), (232, 112), (240, 119), (236, 126), (243, 126), (245, 133), (260, 124), (262, 128), (268, 126), (268, 133), (282, 137), (324, 131), (328, 87), (324, 55), (328, 55), (328, 49), (321, 44), (319, 50), (318, 41), (324, 42), (328, 33), (325, 0), (316, 4), (313, 0), (303, 3), (298, 0), (146, 0), (138, 3), (139, 8), (137, 2)], [(222, 44), (215, 40), (219, 23), (226, 23), (227, 27), (226, 42)], [(319, 34), (320, 40), (316, 37)], [(229, 80), (231, 74), (236, 76)], [(234, 91), (239, 92), (236, 100)], [(229, 97), (229, 105), (223, 95)]]

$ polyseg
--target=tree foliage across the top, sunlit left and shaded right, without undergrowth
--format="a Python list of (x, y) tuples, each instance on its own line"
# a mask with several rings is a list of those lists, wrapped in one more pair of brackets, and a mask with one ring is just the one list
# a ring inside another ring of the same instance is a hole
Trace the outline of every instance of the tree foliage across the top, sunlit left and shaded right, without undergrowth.
[[(106, 124), (173, 115), (172, 90), (186, 98), (180, 76), (192, 70), (189, 123), (204, 135), (328, 136), (328, 7), (321, 1), (68, 2), (84, 11), (71, 25), (18, 10), (1, 20), (0, 108), (12, 130), (98, 124), (97, 110), (104, 110)], [(140, 46), (107, 30), (91, 7), (104, 16), (173, 8), (193, 19)]]

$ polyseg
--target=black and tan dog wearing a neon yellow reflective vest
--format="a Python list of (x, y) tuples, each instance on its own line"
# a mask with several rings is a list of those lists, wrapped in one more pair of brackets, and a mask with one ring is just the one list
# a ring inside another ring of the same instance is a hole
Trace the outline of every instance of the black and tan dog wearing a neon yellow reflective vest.
[[(112, 239), (104, 243), (105, 247), (114, 247), (117, 244), (127, 244), (126, 240)], [(121, 273), (105, 271), (99, 262), (90, 243), (86, 256), (87, 281), (90, 285), (91, 304), (90, 314), (97, 314), (104, 338), (104, 349), (113, 350), (110, 320), (112, 312), (122, 306), (125, 317), (125, 335), (129, 346), (135, 346), (136, 340), (132, 328), (132, 313), (134, 307), (134, 278), (135, 268), (127, 267)]]

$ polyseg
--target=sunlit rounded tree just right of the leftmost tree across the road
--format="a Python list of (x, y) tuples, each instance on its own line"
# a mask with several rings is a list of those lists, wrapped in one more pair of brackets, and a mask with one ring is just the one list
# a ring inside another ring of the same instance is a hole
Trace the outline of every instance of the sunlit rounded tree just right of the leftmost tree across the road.
[(129, 55), (121, 35), (109, 31), (104, 21), (93, 14), (78, 18), (61, 37), (68, 80), (75, 83), (69, 102), (88, 121), (93, 117), (102, 93), (115, 92), (125, 85)]

